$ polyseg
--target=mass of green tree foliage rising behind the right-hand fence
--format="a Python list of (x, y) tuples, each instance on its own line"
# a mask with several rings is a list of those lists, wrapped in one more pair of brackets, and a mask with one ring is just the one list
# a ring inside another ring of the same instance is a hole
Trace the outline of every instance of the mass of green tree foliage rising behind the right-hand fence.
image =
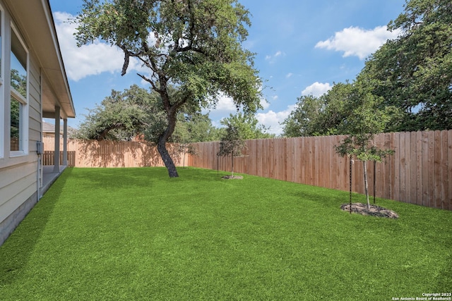
[(407, 1), (405, 11), (388, 24), (400, 36), (372, 54), (352, 84), (336, 84), (321, 97), (300, 97), (283, 123), (285, 136), (349, 134), (350, 116), (367, 118), (357, 126), (369, 131), (375, 124), (371, 112), (356, 110), (357, 85), (366, 90), (359, 95), (380, 98), (376, 109), (390, 118), (381, 131), (451, 129), (451, 24), (451, 1)]

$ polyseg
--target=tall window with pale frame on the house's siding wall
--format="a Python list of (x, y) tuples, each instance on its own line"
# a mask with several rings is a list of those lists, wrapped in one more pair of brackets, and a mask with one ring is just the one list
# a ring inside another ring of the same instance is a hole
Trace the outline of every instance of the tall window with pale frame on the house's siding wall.
[(11, 30), (11, 155), (28, 151), (28, 53)]

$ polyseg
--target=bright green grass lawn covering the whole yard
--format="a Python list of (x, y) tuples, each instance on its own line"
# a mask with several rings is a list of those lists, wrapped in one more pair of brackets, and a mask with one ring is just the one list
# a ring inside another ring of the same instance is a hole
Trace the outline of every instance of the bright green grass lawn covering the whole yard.
[(452, 211), (377, 199), (400, 216), (381, 219), (341, 211), (347, 192), (197, 168), (179, 175), (66, 169), (0, 247), (0, 300), (392, 300), (452, 290)]

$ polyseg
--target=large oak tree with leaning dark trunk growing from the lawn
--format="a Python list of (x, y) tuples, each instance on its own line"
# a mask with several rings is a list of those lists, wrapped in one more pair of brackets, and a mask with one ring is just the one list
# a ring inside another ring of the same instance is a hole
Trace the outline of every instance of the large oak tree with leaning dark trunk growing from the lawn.
[(131, 58), (147, 68), (138, 75), (160, 94), (167, 127), (157, 149), (170, 177), (178, 173), (165, 144), (182, 106), (200, 111), (222, 92), (245, 112), (260, 107), (254, 54), (242, 48), (249, 11), (236, 0), (83, 0), (75, 22), (79, 46), (102, 39), (124, 51), (123, 75)]

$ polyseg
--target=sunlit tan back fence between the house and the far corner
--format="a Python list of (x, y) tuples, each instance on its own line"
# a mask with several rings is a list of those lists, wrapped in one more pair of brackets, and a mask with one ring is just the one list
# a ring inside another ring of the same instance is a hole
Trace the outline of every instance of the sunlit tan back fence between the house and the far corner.
[[(54, 138), (44, 137), (43, 164), (52, 165)], [(167, 145), (174, 164), (182, 166), (188, 162), (177, 145)], [(144, 167), (165, 166), (157, 147), (150, 142), (68, 140), (68, 164), (76, 167)], [(63, 142), (60, 141), (60, 164)]]

